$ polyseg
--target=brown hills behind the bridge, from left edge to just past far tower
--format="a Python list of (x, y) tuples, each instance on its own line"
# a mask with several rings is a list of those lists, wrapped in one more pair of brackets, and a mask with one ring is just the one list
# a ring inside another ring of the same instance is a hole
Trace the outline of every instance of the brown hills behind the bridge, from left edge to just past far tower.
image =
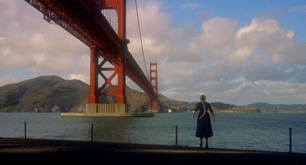
[[(112, 91), (107, 86), (103, 92)], [(39, 76), (0, 87), (0, 112), (85, 112), (89, 85), (80, 80)], [(130, 112), (148, 111), (149, 97), (126, 87)], [(100, 103), (115, 103), (114, 96), (99, 98)], [(158, 102), (159, 112), (163, 106)]]

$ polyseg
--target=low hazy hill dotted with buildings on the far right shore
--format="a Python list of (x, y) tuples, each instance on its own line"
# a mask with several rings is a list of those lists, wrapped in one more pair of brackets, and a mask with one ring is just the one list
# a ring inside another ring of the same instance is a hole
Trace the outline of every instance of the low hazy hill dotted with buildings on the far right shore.
[(256, 107), (262, 112), (306, 112), (306, 104), (268, 104), (268, 103), (253, 103), (241, 107)]

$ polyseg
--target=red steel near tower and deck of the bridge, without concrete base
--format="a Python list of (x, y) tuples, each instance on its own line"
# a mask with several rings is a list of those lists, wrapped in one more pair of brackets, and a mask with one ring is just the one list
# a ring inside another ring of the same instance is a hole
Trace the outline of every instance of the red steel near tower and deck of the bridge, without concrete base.
[[(125, 74), (143, 89), (150, 98), (156, 99), (156, 94), (144, 75), (143, 71), (127, 50), (125, 40), (125, 0), (25, 0), (45, 16), (53, 20), (70, 34), (91, 48), (91, 75), (89, 103), (97, 103), (101, 93), (98, 89), (98, 74), (103, 71), (102, 65), (98, 63), (101, 56), (114, 65), (118, 74), (118, 87), (113, 93), (105, 95), (116, 95), (117, 103), (125, 103)], [(105, 4), (105, 5), (103, 5)], [(115, 9), (118, 15), (118, 35), (110, 26), (109, 22), (101, 13), (101, 9)], [(103, 77), (103, 76), (102, 76)], [(113, 77), (105, 79), (106, 84), (113, 86), (110, 81)], [(94, 85), (91, 85), (94, 84)], [(105, 86), (104, 86), (105, 87)], [(103, 88), (104, 88), (103, 87)], [(112, 87), (113, 88), (113, 87)], [(157, 91), (156, 91), (157, 92)]]

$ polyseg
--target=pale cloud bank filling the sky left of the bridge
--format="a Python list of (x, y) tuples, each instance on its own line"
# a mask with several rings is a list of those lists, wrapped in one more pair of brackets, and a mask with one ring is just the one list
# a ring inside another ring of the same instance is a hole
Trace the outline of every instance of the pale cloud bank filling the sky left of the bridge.
[(48, 24), (31, 5), (10, 1), (2, 8), (8, 10), (0, 10), (0, 68), (59, 76), (89, 70), (89, 48), (58, 25)]

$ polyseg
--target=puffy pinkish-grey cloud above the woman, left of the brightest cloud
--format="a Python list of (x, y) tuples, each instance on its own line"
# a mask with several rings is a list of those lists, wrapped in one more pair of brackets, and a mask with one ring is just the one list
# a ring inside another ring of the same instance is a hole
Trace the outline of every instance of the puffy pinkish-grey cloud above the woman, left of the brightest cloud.
[(237, 28), (235, 20), (221, 17), (206, 20), (202, 24), (202, 33), (193, 36), (187, 50), (202, 57), (203, 61), (220, 61), (230, 53)]

